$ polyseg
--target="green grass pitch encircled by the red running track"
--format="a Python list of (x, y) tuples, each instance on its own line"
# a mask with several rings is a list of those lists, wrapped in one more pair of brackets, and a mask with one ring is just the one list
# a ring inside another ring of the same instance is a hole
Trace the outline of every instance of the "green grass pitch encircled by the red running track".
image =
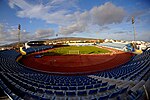
[(43, 55), (66, 55), (69, 51), (79, 51), (79, 54), (100, 54), (109, 53), (109, 50), (98, 48), (95, 46), (67, 46), (49, 50)]

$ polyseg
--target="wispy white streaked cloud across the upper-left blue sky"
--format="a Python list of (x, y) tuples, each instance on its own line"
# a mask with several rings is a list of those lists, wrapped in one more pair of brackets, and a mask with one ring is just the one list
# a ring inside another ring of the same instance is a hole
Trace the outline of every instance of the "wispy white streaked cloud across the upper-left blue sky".
[(33, 5), (25, 0), (10, 0), (9, 6), (11, 8), (19, 7), (17, 16), (21, 18), (36, 18), (51, 24), (67, 25), (75, 21), (74, 15), (70, 14), (71, 11), (67, 9), (78, 9), (76, 2), (76, 0), (52, 0), (46, 4)]

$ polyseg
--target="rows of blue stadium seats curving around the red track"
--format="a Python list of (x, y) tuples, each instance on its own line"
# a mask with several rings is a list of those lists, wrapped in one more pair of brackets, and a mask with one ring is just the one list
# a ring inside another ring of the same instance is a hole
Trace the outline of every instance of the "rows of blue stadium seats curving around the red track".
[[(52, 48), (25, 49), (27, 54)], [(13, 100), (148, 99), (150, 50), (114, 69), (90, 75), (51, 75), (16, 62), (15, 50), (0, 51), (0, 87)]]

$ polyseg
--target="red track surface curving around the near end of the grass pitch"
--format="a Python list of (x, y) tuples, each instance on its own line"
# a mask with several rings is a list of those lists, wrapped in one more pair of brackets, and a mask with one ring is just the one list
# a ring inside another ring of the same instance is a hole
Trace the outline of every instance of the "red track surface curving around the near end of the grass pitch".
[[(31, 54), (20, 59), (28, 68), (54, 74), (88, 74), (118, 67), (128, 62), (132, 53), (111, 49), (110, 54), (42, 56)], [(114, 53), (115, 52), (115, 53)]]

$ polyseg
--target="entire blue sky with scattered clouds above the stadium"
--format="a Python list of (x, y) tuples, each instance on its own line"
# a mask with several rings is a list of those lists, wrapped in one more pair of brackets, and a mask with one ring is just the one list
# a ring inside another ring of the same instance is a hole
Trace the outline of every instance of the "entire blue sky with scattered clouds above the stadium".
[(59, 37), (150, 42), (149, 0), (0, 0), (0, 45)]

